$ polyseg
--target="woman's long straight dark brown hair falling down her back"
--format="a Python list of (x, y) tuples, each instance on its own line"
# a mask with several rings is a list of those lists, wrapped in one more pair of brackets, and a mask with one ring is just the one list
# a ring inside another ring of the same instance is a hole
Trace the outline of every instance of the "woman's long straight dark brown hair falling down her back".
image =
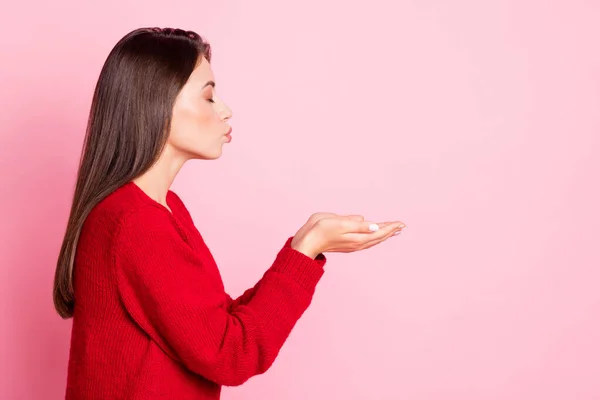
[(210, 45), (181, 29), (141, 28), (125, 35), (100, 72), (67, 229), (54, 276), (54, 307), (73, 316), (73, 274), (84, 221), (102, 199), (148, 170), (166, 143), (175, 98)]

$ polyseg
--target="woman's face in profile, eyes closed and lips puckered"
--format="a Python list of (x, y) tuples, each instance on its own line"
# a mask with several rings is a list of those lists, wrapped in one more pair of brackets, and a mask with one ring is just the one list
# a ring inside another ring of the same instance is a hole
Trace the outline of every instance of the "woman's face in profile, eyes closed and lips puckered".
[(219, 158), (231, 140), (231, 115), (215, 94), (212, 69), (202, 57), (175, 100), (167, 145), (185, 159)]

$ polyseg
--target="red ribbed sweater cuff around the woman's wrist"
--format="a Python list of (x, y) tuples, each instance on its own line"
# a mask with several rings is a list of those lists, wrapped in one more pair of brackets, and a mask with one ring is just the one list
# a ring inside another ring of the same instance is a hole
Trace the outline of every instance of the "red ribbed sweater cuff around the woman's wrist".
[(306, 290), (312, 292), (325, 272), (323, 267), (327, 258), (321, 253), (313, 260), (306, 254), (300, 253), (292, 248), (292, 239), (293, 237), (288, 238), (277, 254), (273, 270), (290, 276)]

